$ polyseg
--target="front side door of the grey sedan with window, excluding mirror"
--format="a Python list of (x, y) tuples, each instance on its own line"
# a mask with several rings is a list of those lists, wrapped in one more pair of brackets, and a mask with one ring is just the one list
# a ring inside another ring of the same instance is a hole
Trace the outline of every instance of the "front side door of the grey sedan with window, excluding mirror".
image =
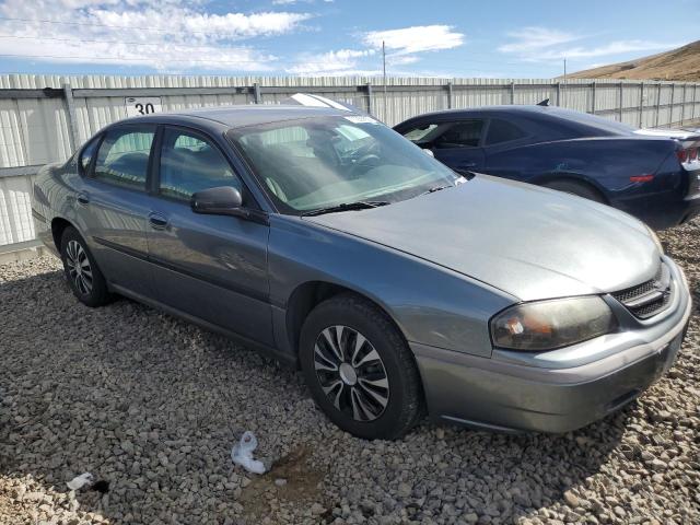
[[(219, 186), (257, 205), (223, 151), (200, 131), (164, 126), (148, 212), (149, 257), (159, 300), (185, 314), (271, 345), (265, 220), (195, 213), (194, 192)], [(261, 213), (253, 217), (261, 218)]]

